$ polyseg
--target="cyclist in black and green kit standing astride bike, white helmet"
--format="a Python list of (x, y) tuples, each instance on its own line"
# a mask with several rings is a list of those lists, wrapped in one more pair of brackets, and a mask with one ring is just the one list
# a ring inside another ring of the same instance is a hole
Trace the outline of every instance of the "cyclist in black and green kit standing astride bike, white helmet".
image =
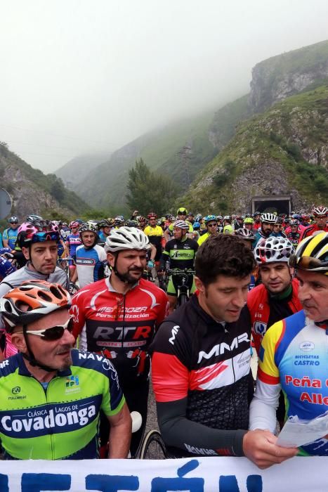
[[(162, 253), (160, 267), (164, 271), (166, 261), (169, 261), (169, 268), (173, 270), (178, 268), (184, 270), (188, 268), (193, 270), (196, 252), (198, 250), (198, 244), (195, 240), (187, 237), (189, 226), (186, 221), (177, 220), (173, 226), (174, 238), (166, 242), (164, 251)], [(178, 273), (172, 275), (169, 278), (169, 284), (167, 286), (167, 296), (169, 297), (169, 311), (173, 313), (173, 309), (176, 307), (178, 285), (181, 283), (181, 275)], [(188, 289), (190, 294), (195, 292), (194, 276), (188, 276)]]

